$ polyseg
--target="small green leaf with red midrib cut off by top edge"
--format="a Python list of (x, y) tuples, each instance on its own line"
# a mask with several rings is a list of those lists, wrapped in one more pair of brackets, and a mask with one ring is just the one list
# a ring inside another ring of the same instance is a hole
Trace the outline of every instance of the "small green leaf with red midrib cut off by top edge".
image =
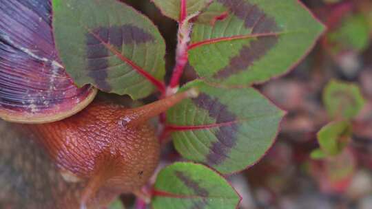
[[(165, 16), (174, 19), (175, 21), (180, 21), (182, 11), (181, 0), (152, 0), (152, 2), (155, 3), (156, 7), (158, 7)], [(211, 0), (187, 0), (185, 2), (185, 17), (188, 17), (192, 14), (203, 11), (209, 3), (211, 3)]]

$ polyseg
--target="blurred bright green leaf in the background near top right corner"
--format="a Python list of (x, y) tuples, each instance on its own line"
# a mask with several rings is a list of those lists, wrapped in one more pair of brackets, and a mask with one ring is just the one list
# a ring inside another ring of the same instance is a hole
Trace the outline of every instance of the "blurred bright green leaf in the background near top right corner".
[(362, 14), (345, 17), (339, 28), (327, 34), (333, 52), (361, 52), (369, 46), (369, 23)]

